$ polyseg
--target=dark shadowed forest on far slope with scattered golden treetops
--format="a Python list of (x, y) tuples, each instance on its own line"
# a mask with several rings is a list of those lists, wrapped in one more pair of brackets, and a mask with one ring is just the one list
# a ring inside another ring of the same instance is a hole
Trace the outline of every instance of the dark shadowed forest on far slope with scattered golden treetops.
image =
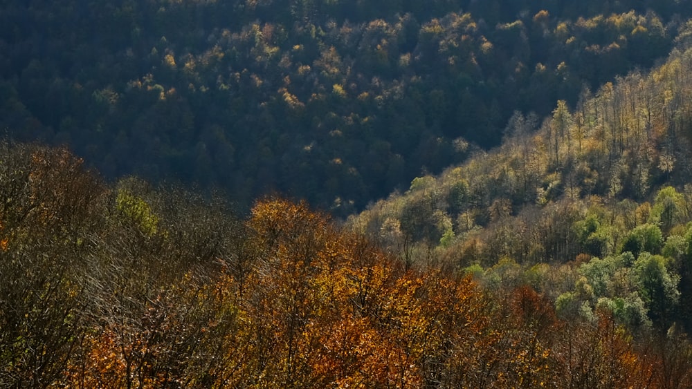
[(4, 1), (0, 128), (340, 216), (665, 57), (680, 1)]

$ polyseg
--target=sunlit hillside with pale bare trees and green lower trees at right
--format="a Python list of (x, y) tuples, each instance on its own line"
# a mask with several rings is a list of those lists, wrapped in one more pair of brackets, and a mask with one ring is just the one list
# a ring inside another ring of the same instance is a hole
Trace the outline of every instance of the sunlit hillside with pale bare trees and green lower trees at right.
[[(691, 66), (692, 51), (675, 50), (574, 111), (515, 113), (498, 149), (416, 178), (349, 224), (412, 267), (529, 283), (572, 316), (619, 306), (622, 323), (691, 330)], [(654, 273), (642, 284), (641, 272)]]

